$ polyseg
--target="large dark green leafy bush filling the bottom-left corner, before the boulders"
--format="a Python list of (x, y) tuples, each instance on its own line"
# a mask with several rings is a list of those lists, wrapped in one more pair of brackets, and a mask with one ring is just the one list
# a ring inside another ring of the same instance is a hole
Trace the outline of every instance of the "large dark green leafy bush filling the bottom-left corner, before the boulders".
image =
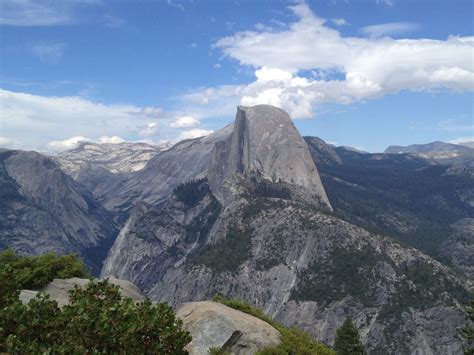
[(118, 286), (76, 286), (60, 309), (40, 294), (23, 305), (10, 297), (0, 308), (0, 352), (13, 354), (186, 354), (191, 341), (167, 304), (135, 304)]

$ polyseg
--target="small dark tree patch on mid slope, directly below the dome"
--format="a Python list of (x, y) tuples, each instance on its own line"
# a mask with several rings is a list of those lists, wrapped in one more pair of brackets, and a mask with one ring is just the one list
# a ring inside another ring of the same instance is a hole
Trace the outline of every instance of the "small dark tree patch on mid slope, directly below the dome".
[(251, 257), (251, 243), (251, 228), (230, 227), (223, 239), (199, 251), (194, 264), (205, 265), (216, 272), (236, 272)]

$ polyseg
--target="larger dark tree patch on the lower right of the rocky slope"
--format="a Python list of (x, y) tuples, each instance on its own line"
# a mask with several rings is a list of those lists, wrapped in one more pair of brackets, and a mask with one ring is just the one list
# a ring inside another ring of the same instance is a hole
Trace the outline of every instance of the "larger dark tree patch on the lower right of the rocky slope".
[(370, 247), (360, 250), (337, 248), (327, 260), (314, 261), (300, 273), (300, 281), (292, 299), (331, 303), (352, 296), (364, 305), (371, 305), (374, 289), (367, 277), (383, 257)]

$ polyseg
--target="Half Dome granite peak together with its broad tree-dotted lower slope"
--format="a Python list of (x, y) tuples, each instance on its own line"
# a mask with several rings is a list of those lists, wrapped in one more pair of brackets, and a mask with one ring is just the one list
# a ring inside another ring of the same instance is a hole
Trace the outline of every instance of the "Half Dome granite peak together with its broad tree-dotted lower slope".
[[(307, 163), (306, 145), (295, 148), (278, 133), (294, 134), (280, 127), (288, 126), (280, 110), (239, 112), (227, 144), (216, 144), (209, 172), (201, 175), (208, 180), (180, 185), (159, 204), (137, 206), (103, 275), (130, 280), (152, 299), (173, 305), (215, 293), (241, 298), (329, 344), (350, 315), (373, 354), (461, 353), (461, 303), (468, 298), (463, 280), (415, 249), (343, 221), (321, 190), (307, 190), (319, 186), (317, 170)], [(278, 117), (263, 129), (260, 117), (273, 114)], [(254, 128), (269, 148), (251, 133)], [(300, 155), (285, 153), (292, 149)], [(273, 151), (287, 168), (272, 166)], [(360, 184), (341, 183), (361, 191)]]

